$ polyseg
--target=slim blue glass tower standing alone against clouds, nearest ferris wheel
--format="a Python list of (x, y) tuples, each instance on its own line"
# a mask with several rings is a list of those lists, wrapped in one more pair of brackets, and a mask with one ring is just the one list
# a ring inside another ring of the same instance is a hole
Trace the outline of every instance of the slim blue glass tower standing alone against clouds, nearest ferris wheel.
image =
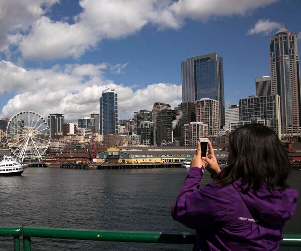
[(114, 134), (118, 132), (118, 99), (114, 89), (104, 90), (100, 98), (99, 133)]

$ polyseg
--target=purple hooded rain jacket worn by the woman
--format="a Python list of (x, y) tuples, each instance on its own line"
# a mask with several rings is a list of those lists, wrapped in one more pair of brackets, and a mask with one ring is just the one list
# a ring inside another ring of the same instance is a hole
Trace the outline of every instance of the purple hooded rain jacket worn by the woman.
[(298, 191), (263, 185), (243, 194), (237, 180), (199, 189), (204, 168), (192, 167), (172, 208), (172, 216), (196, 230), (195, 250), (275, 250), (296, 209)]

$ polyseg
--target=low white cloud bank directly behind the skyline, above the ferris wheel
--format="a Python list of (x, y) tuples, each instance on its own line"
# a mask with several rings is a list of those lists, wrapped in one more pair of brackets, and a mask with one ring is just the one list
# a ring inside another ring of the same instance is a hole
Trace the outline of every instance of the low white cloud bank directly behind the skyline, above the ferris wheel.
[[(62, 113), (66, 121), (99, 113), (102, 91), (115, 89), (118, 94), (119, 118), (132, 118), (140, 109), (152, 110), (156, 101), (178, 106), (182, 100), (181, 86), (155, 83), (134, 91), (103, 77), (106, 64), (56, 65), (51, 69), (25, 69), (8, 61), (0, 61), (0, 95), (14, 93), (2, 109), (1, 117), (31, 110), (48, 117)], [(26, 90), (26, 92), (24, 92)]]

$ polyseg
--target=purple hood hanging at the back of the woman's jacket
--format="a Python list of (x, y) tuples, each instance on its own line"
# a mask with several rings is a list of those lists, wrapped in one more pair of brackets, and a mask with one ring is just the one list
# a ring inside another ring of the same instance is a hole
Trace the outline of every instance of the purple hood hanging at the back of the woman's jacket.
[(296, 189), (280, 191), (270, 189), (266, 184), (263, 184), (259, 191), (255, 192), (251, 188), (244, 194), (241, 190), (246, 186), (241, 187), (241, 180), (234, 182), (233, 186), (240, 194), (254, 219), (259, 220), (259, 222), (275, 226), (284, 224), (294, 215), (298, 197), (298, 190)]

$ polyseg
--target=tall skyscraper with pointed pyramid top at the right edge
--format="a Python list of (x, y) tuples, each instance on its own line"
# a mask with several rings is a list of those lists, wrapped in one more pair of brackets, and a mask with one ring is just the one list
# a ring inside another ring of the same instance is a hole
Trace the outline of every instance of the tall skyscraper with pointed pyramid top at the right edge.
[(270, 38), (272, 95), (280, 96), (282, 137), (301, 135), (301, 88), (296, 33), (282, 27)]

